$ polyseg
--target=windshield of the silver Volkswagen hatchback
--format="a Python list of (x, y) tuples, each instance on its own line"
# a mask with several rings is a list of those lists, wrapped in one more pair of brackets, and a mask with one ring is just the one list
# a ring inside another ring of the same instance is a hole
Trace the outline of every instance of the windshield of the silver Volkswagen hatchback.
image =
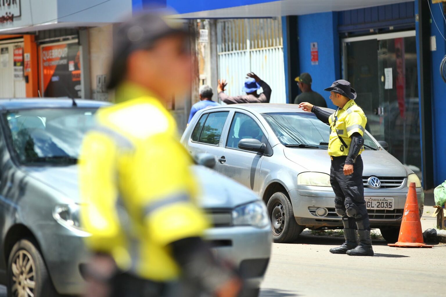
[[(330, 127), (318, 120), (314, 114), (271, 112), (262, 115), (283, 145), (328, 148)], [(367, 132), (364, 133), (364, 144), (365, 149), (378, 149)]]

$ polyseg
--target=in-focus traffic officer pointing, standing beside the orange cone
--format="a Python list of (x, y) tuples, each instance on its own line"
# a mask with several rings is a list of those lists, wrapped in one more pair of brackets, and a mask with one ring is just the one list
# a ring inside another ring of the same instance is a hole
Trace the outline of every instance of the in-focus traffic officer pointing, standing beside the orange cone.
[[(331, 248), (334, 254), (373, 256), (370, 221), (364, 201), (362, 179), (364, 129), (367, 118), (355, 103), (356, 91), (350, 82), (340, 79), (325, 89), (338, 106), (335, 113), (322, 110), (310, 103), (299, 104), (304, 111), (311, 111), (324, 123), (330, 124), (328, 154), (331, 158), (330, 183), (335, 192), (335, 210), (342, 217), (345, 243)], [(356, 240), (355, 229), (359, 235)]]

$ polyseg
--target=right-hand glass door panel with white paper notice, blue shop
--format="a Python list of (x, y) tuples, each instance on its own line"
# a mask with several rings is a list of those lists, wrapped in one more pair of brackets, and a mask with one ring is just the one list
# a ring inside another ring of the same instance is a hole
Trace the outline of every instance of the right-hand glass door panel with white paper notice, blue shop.
[(379, 96), (389, 152), (421, 173), (420, 114), (415, 37), (378, 41)]

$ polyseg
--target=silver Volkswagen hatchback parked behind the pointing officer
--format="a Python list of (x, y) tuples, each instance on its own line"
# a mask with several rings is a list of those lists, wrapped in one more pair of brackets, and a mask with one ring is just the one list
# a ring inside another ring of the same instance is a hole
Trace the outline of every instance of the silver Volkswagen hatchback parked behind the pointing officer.
[[(213, 154), (215, 170), (257, 193), (267, 204), (274, 240), (285, 243), (306, 227), (342, 227), (330, 186), (329, 131), (297, 105), (235, 104), (197, 112), (182, 143), (192, 154)], [(395, 242), (409, 182), (417, 185), (423, 213), (421, 182), (384, 149), (384, 141), (368, 132), (364, 141), (364, 195), (372, 228)]]

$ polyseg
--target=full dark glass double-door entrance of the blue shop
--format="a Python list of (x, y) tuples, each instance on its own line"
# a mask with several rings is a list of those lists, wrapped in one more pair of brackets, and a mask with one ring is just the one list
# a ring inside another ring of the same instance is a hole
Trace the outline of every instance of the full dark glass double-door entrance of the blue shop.
[(366, 129), (421, 178), (416, 40), (407, 32), (390, 35), (345, 39), (344, 78), (358, 93)]

